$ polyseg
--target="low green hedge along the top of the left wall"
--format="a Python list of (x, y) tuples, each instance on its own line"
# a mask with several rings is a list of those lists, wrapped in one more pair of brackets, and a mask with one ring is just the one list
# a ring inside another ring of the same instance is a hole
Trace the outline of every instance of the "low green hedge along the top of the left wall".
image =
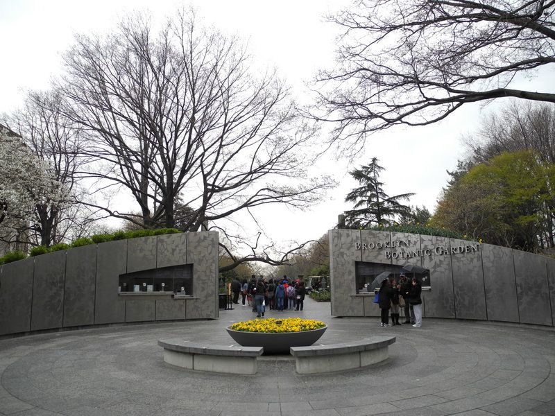
[[(73, 247), (82, 247), (83, 245), (90, 244), (100, 244), (107, 243), (108, 241), (126, 240), (126, 239), (137, 239), (140, 237), (148, 236), (160, 236), (164, 234), (178, 234), (181, 231), (177, 228), (158, 228), (158, 229), (135, 229), (133, 231), (115, 231), (110, 234), (95, 234), (90, 237), (81, 237), (76, 239), (71, 244), (59, 243), (51, 245), (51, 247), (46, 247), (45, 245), (39, 245), (37, 247), (31, 248), (30, 256), (35, 257), (40, 254), (51, 253), (59, 250), (67, 250)], [(11, 263), (12, 261), (25, 259), (27, 255), (19, 250), (13, 252), (7, 252), (4, 257), (0, 257), (0, 264)]]

